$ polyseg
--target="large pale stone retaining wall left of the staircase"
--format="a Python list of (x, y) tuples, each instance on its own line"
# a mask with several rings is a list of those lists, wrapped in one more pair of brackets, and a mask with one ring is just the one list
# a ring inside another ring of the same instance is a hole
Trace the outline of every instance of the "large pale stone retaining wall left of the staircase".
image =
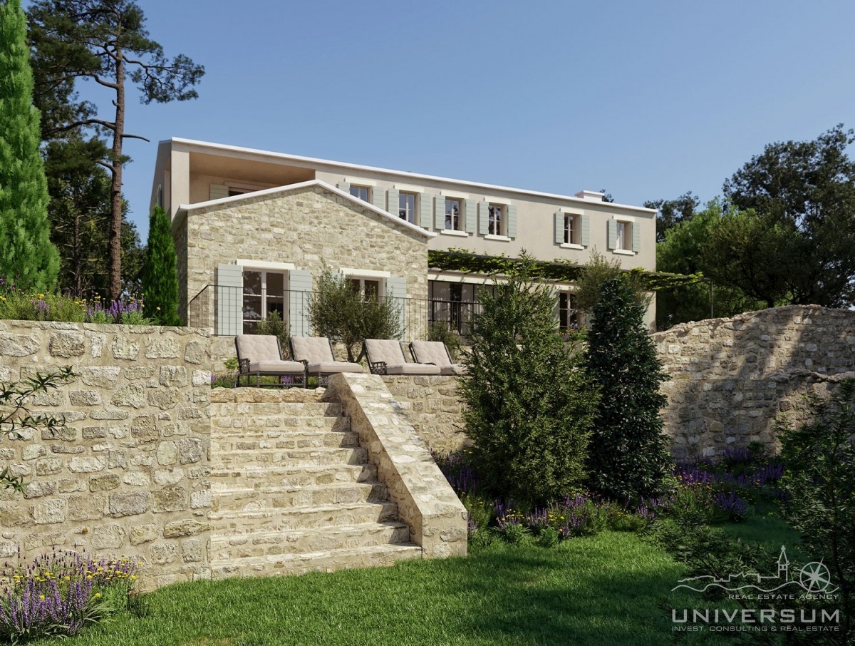
[(0, 436), (0, 557), (56, 548), (144, 563), (144, 589), (207, 578), (209, 338), (195, 329), (0, 321), (0, 381), (73, 367), (32, 401), (64, 429)]

